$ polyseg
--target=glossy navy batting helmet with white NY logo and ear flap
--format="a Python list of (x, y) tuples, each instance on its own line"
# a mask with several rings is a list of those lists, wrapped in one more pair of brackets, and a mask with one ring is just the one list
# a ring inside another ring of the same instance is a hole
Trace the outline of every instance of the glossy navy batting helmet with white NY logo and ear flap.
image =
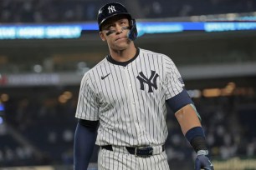
[(136, 29), (136, 21), (131, 18), (131, 14), (128, 13), (126, 7), (119, 2), (110, 2), (105, 4), (103, 7), (100, 7), (98, 13), (98, 24), (99, 29), (101, 31), (102, 24), (105, 23), (106, 20), (113, 18), (115, 16), (125, 16), (130, 21), (130, 32), (128, 33), (128, 37), (131, 40), (135, 40), (137, 37), (137, 29)]

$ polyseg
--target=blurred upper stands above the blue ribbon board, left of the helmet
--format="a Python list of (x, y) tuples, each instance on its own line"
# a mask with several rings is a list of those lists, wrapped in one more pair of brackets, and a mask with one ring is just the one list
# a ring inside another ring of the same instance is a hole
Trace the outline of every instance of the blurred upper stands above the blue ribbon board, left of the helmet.
[(98, 1), (3, 0), (1, 23), (65, 23), (95, 20)]

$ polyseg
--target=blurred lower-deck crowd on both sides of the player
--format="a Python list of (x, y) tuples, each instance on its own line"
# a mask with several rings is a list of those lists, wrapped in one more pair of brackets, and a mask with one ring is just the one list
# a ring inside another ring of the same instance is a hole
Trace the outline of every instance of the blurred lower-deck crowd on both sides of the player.
[[(77, 87), (79, 88), (79, 87)], [(58, 89), (56, 89), (58, 91)], [(58, 97), (10, 98), (6, 124), (0, 133), (0, 165), (72, 165), (77, 95), (61, 103)], [(212, 158), (252, 158), (256, 155), (256, 97), (200, 97), (193, 99), (202, 117)], [(166, 153), (170, 163), (193, 160), (195, 153), (168, 109)], [(11, 129), (8, 128), (8, 129)], [(1, 128), (0, 128), (1, 129)], [(30, 147), (29, 147), (30, 146)], [(97, 159), (95, 149), (93, 162)]]

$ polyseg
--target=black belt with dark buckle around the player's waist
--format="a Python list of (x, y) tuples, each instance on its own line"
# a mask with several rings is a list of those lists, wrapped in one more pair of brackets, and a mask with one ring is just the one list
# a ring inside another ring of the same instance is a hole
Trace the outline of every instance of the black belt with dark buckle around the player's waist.
[[(101, 148), (113, 151), (113, 146), (112, 145), (105, 145), (101, 146)], [(138, 148), (133, 148), (133, 147), (125, 147), (128, 153), (135, 155), (136, 157), (141, 157), (141, 158), (149, 158), (154, 154), (160, 154), (165, 151), (165, 145), (161, 145), (161, 150), (158, 152), (154, 152), (154, 148), (156, 147), (138, 147)]]

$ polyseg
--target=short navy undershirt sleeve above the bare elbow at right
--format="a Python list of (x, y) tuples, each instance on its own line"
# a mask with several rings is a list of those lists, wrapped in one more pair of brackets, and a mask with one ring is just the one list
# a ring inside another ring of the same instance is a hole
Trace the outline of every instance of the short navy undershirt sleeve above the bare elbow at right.
[(186, 106), (187, 104), (193, 103), (186, 89), (183, 89), (182, 92), (178, 93), (175, 97), (166, 100), (166, 102), (168, 106), (172, 109), (172, 112), (177, 112), (179, 109)]

